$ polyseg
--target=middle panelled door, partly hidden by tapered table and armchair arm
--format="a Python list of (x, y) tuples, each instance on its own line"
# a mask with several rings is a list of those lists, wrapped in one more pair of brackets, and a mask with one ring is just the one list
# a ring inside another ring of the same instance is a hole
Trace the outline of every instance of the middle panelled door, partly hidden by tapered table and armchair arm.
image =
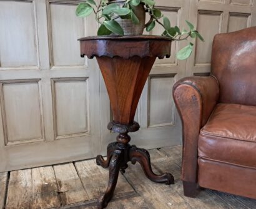
[[(169, 17), (172, 26), (185, 26), (189, 18), (189, 3), (187, 0), (159, 0), (157, 7), (164, 16)], [(150, 34), (162, 34), (161, 26), (156, 26)], [(135, 121), (139, 122), (140, 130), (131, 133), (131, 143), (144, 148), (156, 148), (177, 145), (181, 143), (181, 124), (172, 100), (174, 83), (185, 75), (185, 61), (177, 61), (176, 52), (187, 44), (172, 43), (172, 55), (169, 59), (157, 60), (150, 72), (149, 79), (142, 92)], [(116, 134), (106, 127), (111, 120), (111, 107), (106, 94), (104, 81), (101, 79), (101, 147), (106, 152), (107, 143), (115, 140)]]

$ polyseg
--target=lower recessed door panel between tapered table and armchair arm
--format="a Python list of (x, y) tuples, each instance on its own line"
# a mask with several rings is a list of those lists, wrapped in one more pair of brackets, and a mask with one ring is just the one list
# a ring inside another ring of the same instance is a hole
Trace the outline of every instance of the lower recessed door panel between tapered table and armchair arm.
[(149, 127), (172, 125), (174, 123), (172, 100), (174, 75), (152, 75), (149, 82)]

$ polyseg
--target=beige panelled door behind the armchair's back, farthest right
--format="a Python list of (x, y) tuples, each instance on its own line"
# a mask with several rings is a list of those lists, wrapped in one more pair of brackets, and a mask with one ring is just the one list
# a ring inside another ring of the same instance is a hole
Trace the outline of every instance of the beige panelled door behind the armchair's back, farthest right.
[(255, 0), (190, 0), (189, 19), (205, 42), (192, 40), (195, 50), (187, 60), (186, 75), (207, 75), (214, 35), (256, 26)]

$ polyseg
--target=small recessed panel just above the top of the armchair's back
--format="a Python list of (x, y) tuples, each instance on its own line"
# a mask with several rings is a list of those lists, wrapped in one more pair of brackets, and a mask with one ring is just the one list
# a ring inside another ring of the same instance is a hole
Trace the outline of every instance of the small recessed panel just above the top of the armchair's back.
[(242, 30), (249, 26), (250, 14), (232, 13), (229, 14), (228, 32)]

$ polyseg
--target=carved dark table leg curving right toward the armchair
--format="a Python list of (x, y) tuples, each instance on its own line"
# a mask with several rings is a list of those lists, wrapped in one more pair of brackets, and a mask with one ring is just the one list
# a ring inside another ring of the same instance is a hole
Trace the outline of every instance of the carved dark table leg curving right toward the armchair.
[(163, 175), (156, 175), (152, 171), (150, 155), (147, 150), (143, 148), (137, 148), (134, 145), (130, 148), (130, 162), (135, 164), (139, 162), (147, 178), (152, 182), (165, 183), (167, 185), (174, 184), (174, 177), (170, 173), (164, 173)]

